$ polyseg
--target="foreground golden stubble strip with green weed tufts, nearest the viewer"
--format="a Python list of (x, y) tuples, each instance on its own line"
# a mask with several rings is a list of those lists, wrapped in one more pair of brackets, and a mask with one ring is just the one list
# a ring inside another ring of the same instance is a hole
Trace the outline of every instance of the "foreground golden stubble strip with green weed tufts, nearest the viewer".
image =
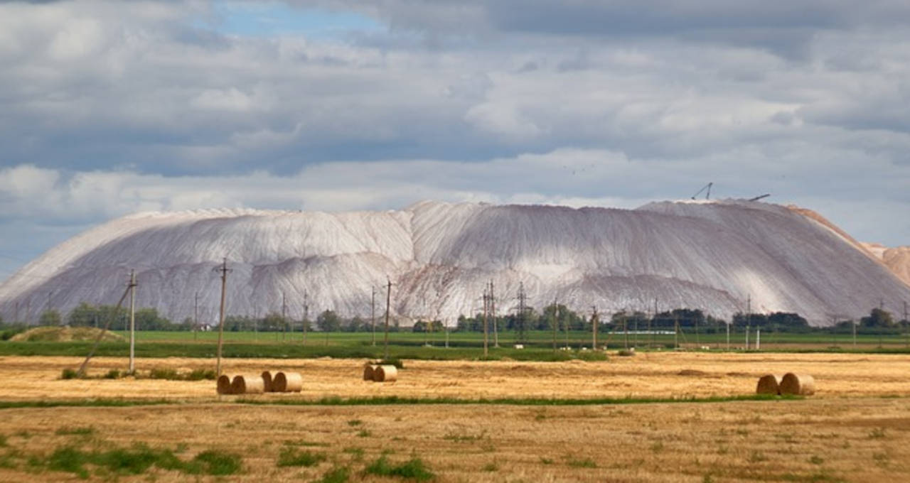
[(2, 481), (898, 481), (910, 471), (905, 398), (584, 407), (213, 403), (0, 414)]

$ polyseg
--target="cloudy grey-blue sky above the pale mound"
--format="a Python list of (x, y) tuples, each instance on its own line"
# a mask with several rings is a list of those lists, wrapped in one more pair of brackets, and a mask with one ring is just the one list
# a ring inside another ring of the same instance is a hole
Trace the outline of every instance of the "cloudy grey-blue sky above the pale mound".
[(910, 245), (905, 0), (0, 0), (0, 279), (137, 211), (808, 207)]

